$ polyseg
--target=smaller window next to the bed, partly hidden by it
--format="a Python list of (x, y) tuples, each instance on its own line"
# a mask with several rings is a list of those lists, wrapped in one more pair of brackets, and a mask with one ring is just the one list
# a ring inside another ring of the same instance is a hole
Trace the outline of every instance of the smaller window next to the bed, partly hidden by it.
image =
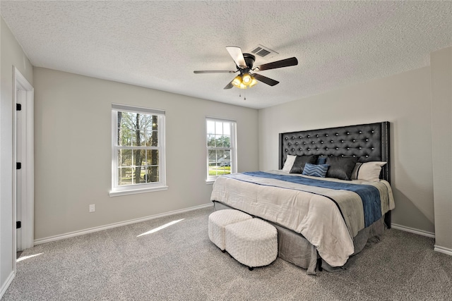
[(206, 118), (207, 180), (237, 172), (236, 122)]

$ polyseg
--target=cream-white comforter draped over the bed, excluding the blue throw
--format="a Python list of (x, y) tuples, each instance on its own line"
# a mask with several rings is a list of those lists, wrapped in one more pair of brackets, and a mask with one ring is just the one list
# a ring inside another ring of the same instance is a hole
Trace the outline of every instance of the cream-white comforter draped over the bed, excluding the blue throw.
[[(283, 171), (267, 172), (314, 178)], [(322, 180), (350, 183), (333, 178)], [(372, 185), (379, 189), (381, 214), (394, 209), (393, 194), (387, 181), (353, 180), (352, 183)], [(323, 195), (338, 202), (343, 216), (338, 206)], [(347, 262), (354, 252), (353, 237), (364, 228), (362, 200), (357, 193), (346, 190), (234, 173), (215, 180), (210, 199), (301, 233), (331, 266), (343, 266)]]

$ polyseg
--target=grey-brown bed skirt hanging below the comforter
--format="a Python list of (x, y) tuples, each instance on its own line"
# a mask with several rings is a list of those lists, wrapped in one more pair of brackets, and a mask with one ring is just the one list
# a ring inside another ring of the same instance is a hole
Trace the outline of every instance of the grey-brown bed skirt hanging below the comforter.
[[(220, 202), (213, 202), (214, 210), (234, 209)], [(307, 274), (316, 275), (316, 271), (324, 269), (326, 271), (338, 271), (344, 269), (344, 266), (333, 267), (321, 260), (317, 253), (316, 247), (303, 237), (303, 235), (296, 233), (288, 228), (267, 221), (275, 226), (278, 230), (278, 257), (287, 262), (295, 264), (303, 269), (307, 269)], [(367, 242), (378, 242), (384, 232), (384, 216), (378, 221), (371, 224), (371, 226), (362, 229), (353, 238), (354, 253), (359, 253), (364, 249)], [(352, 256), (353, 256), (352, 255)], [(319, 260), (318, 260), (319, 259)], [(347, 264), (345, 264), (347, 265)]]

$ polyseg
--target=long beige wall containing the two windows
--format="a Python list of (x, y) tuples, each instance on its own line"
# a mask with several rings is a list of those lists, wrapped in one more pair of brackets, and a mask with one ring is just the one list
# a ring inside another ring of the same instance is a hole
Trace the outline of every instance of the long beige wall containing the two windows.
[[(45, 68), (34, 79), (37, 240), (209, 204), (206, 116), (236, 120), (239, 171), (258, 168), (256, 109)], [(109, 197), (112, 103), (166, 111), (168, 190)]]

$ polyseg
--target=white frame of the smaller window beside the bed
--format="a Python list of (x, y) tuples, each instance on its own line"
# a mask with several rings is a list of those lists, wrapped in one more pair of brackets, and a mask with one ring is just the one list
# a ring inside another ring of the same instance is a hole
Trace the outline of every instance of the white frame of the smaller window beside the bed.
[[(209, 147), (207, 145), (208, 140), (208, 121), (213, 122), (222, 122), (222, 123), (230, 123), (230, 147)], [(224, 118), (216, 118), (206, 116), (206, 133), (205, 133), (205, 141), (206, 141), (206, 183), (213, 184), (218, 176), (210, 176), (209, 175), (209, 150), (217, 149), (217, 150), (230, 150), (230, 173), (237, 173), (237, 121), (231, 119)]]

